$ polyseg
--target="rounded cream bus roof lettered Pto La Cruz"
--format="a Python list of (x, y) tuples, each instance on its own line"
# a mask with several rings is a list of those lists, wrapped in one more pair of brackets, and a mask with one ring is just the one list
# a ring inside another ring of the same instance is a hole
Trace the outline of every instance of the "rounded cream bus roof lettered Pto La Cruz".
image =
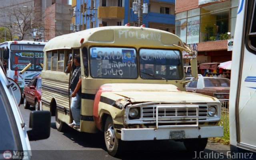
[[(91, 45), (115, 45), (135, 47), (168, 47), (179, 45), (181, 39), (167, 31), (144, 27), (107, 26), (86, 29), (75, 33), (54, 37), (44, 47), (44, 51), (71, 49)], [(183, 44), (183, 43), (182, 43)]]

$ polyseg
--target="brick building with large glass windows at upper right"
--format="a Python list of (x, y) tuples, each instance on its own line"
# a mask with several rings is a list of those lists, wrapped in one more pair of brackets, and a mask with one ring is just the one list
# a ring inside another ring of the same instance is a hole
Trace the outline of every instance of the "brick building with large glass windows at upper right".
[(177, 0), (176, 35), (198, 51), (198, 63), (231, 60), (237, 10), (238, 0)]

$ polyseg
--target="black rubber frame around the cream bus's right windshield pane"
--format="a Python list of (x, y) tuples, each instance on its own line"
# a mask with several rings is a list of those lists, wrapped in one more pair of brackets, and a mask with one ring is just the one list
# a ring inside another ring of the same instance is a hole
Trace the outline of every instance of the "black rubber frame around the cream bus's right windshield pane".
[[(178, 51), (179, 53), (180, 53), (180, 60), (181, 60), (181, 64), (183, 64), (182, 63), (182, 53), (180, 52), (180, 50), (179, 49), (166, 49), (166, 48), (148, 48), (148, 47), (141, 47), (141, 48), (139, 48), (139, 50), (138, 50), (138, 63), (139, 63), (139, 66), (138, 66), (138, 69), (139, 69), (139, 76), (140, 76), (140, 78), (142, 78), (141, 77), (141, 72), (140, 72), (140, 50), (141, 49), (155, 49), (155, 50), (167, 50), (167, 51)], [(180, 77), (180, 79), (168, 79), (168, 78), (166, 78), (166, 80), (182, 80), (183, 78), (184, 78), (184, 67), (183, 67), (183, 65), (181, 66), (182, 68), (182, 72), (181, 72), (181, 77)], [(144, 80), (159, 80), (159, 79), (145, 79), (145, 78), (142, 78), (142, 79), (144, 79)]]

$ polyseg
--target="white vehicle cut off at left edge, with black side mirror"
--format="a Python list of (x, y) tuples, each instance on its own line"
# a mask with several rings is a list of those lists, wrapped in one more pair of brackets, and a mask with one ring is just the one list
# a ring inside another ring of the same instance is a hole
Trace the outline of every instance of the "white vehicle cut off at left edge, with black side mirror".
[[(2, 63), (0, 62), (0, 66)], [(50, 136), (49, 111), (32, 111), (29, 127), (25, 127), (12, 87), (0, 67), (0, 159), (30, 159), (29, 140), (47, 139)]]

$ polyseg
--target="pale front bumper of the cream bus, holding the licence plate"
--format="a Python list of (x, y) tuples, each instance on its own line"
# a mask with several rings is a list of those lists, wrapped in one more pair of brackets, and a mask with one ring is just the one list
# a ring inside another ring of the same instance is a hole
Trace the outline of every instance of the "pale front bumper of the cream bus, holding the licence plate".
[(121, 133), (121, 140), (125, 141), (223, 137), (224, 134), (222, 126), (196, 128), (122, 129)]

